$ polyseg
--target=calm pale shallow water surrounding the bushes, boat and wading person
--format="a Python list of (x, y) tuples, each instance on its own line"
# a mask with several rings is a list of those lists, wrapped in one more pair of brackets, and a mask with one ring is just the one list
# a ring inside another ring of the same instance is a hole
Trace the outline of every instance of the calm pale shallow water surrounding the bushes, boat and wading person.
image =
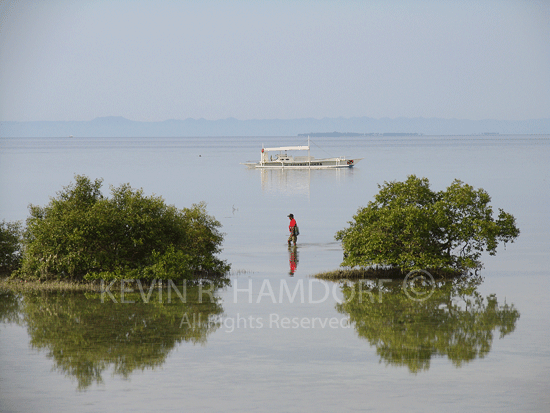
[[(206, 201), (233, 268), (231, 284), (202, 304), (192, 288), (185, 303), (167, 303), (166, 292), (149, 303), (139, 294), (122, 303), (116, 291), (117, 303), (3, 294), (0, 411), (549, 410), (550, 137), (323, 138), (312, 155), (364, 159), (339, 171), (239, 165), (262, 144), (302, 143), (0, 140), (2, 218), (24, 219), (29, 203), (44, 205), (74, 174), (102, 177), (104, 192), (129, 182), (178, 207)], [(377, 184), (408, 174), (436, 190), (455, 178), (486, 189), (517, 218), (519, 239), (484, 257), (470, 295), (441, 286), (415, 302), (381, 281), (365, 302), (339, 305), (345, 288), (310, 276), (338, 267), (334, 234)], [(301, 232), (295, 253), (290, 212)]]

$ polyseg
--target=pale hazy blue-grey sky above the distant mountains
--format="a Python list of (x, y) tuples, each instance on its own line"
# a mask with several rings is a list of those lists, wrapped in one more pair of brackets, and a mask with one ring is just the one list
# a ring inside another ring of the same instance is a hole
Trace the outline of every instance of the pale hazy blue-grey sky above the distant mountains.
[(0, 0), (0, 121), (550, 118), (550, 1)]

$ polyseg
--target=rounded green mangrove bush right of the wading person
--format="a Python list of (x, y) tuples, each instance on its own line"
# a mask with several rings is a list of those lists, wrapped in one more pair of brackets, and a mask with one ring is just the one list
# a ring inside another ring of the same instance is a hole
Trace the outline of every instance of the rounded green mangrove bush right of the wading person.
[(484, 251), (495, 255), (500, 242), (519, 235), (511, 214), (499, 210), (493, 218), (485, 190), (459, 180), (439, 192), (414, 175), (379, 188), (374, 201), (336, 234), (344, 248), (342, 266), (477, 270)]

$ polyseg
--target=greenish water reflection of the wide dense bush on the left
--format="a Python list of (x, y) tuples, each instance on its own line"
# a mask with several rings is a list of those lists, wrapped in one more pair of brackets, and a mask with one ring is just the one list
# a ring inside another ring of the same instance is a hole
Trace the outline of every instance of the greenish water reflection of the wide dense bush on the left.
[[(166, 297), (166, 293), (164, 294)], [(132, 304), (101, 302), (98, 294), (26, 294), (21, 304), (31, 346), (48, 351), (55, 369), (76, 378), (79, 389), (101, 383), (108, 368), (127, 378), (134, 370), (162, 365), (181, 342), (205, 344), (223, 313), (219, 298), (198, 300), (187, 288), (185, 302), (126, 294)]]

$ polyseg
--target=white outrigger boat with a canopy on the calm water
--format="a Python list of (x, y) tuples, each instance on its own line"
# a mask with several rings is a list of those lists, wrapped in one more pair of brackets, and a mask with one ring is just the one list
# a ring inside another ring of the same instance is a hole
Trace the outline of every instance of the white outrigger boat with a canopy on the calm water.
[[(289, 151), (307, 151), (307, 156), (292, 156)], [(270, 155), (269, 153), (272, 153)], [(273, 152), (277, 152), (273, 155)], [(278, 148), (262, 148), (260, 162), (245, 162), (249, 168), (265, 169), (334, 169), (352, 168), (363, 158), (348, 159), (345, 156), (339, 158), (316, 159), (310, 156), (309, 138), (307, 146), (281, 146)]]

